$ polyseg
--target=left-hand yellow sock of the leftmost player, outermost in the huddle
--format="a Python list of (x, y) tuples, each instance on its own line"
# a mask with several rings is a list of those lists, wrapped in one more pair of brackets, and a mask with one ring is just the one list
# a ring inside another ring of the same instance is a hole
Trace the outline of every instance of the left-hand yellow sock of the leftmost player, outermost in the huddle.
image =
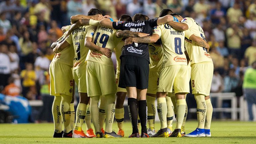
[(52, 117), (54, 123), (54, 131), (56, 133), (60, 133), (62, 131), (62, 117), (61, 117), (61, 96), (54, 96), (54, 100), (52, 103)]

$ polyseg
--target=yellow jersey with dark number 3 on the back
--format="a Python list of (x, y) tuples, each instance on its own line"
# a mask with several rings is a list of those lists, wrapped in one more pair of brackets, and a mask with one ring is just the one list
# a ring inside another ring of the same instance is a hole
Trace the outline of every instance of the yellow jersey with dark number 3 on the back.
[(86, 56), (89, 52), (89, 49), (84, 46), (84, 41), (86, 37), (92, 38), (94, 35), (95, 27), (94, 26), (81, 26), (75, 29), (67, 38), (66, 41), (74, 47), (75, 58), (73, 70), (79, 68), (81, 63), (85, 62)]

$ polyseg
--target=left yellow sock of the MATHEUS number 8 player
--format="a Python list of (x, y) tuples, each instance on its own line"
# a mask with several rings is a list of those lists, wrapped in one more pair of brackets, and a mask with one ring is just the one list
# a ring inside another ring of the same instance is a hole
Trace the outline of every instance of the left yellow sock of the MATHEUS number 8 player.
[(167, 115), (167, 104), (165, 97), (157, 98), (157, 113), (160, 119), (161, 129), (167, 128), (166, 115)]

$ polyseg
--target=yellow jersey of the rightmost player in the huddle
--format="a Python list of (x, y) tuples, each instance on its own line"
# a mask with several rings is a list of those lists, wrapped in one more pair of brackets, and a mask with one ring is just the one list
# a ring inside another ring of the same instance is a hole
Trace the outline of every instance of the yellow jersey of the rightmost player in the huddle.
[(194, 41), (189, 40), (189, 37), (193, 34), (205, 40), (204, 31), (200, 24), (194, 19), (188, 17), (184, 18), (181, 23), (188, 25), (188, 30), (186, 31), (185, 35), (185, 48), (188, 52), (191, 64), (212, 62), (212, 58), (205, 48), (200, 47)]

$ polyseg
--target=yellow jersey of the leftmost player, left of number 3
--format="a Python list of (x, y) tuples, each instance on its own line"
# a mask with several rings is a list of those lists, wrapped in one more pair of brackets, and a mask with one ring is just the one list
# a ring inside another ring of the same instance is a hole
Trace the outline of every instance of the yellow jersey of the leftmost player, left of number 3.
[[(58, 41), (62, 40), (65, 36), (66, 32), (63, 34), (62, 37), (58, 39)], [(74, 59), (74, 48), (73, 45), (68, 46), (63, 51), (56, 53), (54, 55), (54, 58), (52, 59), (52, 62), (58, 62), (62, 64), (66, 64), (69, 66), (73, 66), (73, 59)]]

